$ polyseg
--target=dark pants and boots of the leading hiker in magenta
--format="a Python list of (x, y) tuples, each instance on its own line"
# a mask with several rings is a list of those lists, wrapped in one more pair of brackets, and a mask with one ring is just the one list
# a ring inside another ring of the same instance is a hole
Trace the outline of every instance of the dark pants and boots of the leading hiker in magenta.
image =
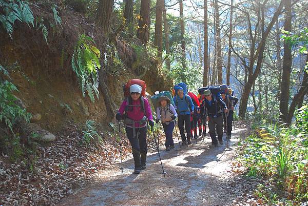
[(126, 134), (129, 139), (135, 169), (141, 169), (142, 165), (146, 164), (147, 153), (147, 127), (136, 128), (136, 137), (133, 137), (132, 128), (126, 127)]

